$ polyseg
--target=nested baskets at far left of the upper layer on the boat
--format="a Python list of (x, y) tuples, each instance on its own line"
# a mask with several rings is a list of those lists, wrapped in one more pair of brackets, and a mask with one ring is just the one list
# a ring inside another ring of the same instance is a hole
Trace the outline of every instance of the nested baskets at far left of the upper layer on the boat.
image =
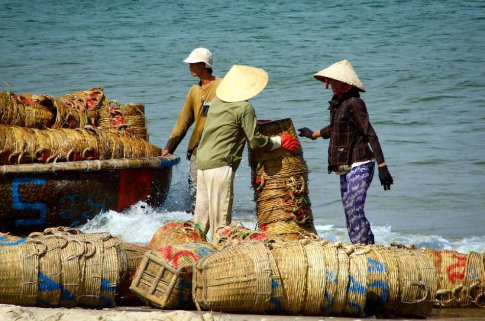
[(0, 92), (0, 124), (29, 128), (50, 127), (54, 114), (39, 103), (41, 100), (42, 96)]

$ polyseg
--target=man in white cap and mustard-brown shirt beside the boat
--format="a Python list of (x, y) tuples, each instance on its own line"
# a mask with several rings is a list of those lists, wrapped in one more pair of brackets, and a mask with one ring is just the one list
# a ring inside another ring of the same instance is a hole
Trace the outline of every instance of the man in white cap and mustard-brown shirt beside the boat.
[(190, 88), (172, 134), (162, 151), (162, 156), (174, 153), (190, 126), (195, 123), (187, 146), (187, 159), (190, 160), (189, 184), (193, 199), (197, 188), (197, 147), (204, 129), (207, 111), (222, 79), (212, 75), (212, 53), (206, 48), (194, 49), (183, 62), (189, 65), (192, 77), (197, 76), (200, 80)]

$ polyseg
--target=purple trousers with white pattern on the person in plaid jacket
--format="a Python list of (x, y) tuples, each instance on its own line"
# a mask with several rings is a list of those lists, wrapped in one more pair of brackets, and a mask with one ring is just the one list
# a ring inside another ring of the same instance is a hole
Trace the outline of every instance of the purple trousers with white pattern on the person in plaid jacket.
[(352, 244), (374, 244), (374, 234), (363, 211), (373, 177), (374, 162), (354, 167), (340, 175), (340, 192)]

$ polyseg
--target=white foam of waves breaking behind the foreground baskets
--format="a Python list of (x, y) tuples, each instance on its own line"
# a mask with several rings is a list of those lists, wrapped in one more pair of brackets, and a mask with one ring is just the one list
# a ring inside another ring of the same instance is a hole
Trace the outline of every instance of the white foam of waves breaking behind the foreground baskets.
[[(122, 237), (126, 242), (147, 245), (153, 233), (168, 221), (191, 220), (191, 214), (184, 211), (155, 209), (144, 202), (138, 202), (124, 212), (110, 210), (94, 217), (84, 226), (85, 232), (108, 231)], [(249, 227), (249, 225), (248, 225)], [(316, 225), (318, 234), (330, 241), (349, 242), (345, 228), (333, 225)], [(462, 253), (485, 251), (485, 235), (447, 239), (440, 235), (405, 234), (392, 230), (391, 226), (372, 226), (377, 244), (414, 244), (422, 248), (449, 249)]]

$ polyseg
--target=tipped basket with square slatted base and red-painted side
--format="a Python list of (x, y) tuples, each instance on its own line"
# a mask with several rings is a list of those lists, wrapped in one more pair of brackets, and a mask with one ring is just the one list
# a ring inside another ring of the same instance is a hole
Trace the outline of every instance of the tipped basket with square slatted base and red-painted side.
[(209, 243), (191, 243), (149, 251), (130, 289), (151, 306), (162, 309), (192, 307), (192, 266), (218, 249)]

